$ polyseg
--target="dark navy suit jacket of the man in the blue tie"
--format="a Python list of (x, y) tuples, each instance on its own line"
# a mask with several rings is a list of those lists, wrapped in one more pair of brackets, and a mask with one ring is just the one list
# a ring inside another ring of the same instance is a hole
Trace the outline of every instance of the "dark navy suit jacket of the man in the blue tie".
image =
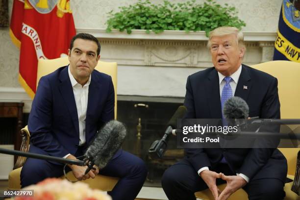
[[(247, 86), (247, 90), (244, 89)], [(221, 119), (219, 75), (214, 67), (190, 75), (186, 84), (184, 105), (186, 119)], [(242, 65), (234, 96), (249, 105), (249, 116), (261, 119), (280, 118), (277, 79), (269, 74)], [(250, 180), (279, 178), (285, 180), (287, 161), (277, 149), (185, 149), (185, 154), (196, 171), (213, 167), (225, 157), (236, 173), (247, 175)]]

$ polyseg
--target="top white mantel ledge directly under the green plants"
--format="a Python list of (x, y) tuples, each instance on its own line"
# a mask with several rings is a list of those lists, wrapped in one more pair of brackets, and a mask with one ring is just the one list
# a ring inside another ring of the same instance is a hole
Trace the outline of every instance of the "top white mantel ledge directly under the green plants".
[[(134, 40), (192, 40), (192, 41), (207, 41), (204, 31), (190, 31), (186, 33), (183, 30), (165, 30), (162, 33), (156, 34), (154, 32), (146, 33), (145, 30), (132, 30), (131, 34), (126, 31), (120, 32), (119, 30), (112, 30), (107, 33), (105, 29), (95, 28), (76, 28), (77, 33), (85, 32), (94, 35), (97, 38), (110, 38), (110, 39), (134, 39)], [(276, 39), (275, 32), (244, 32), (246, 42), (251, 41), (272, 41)]]

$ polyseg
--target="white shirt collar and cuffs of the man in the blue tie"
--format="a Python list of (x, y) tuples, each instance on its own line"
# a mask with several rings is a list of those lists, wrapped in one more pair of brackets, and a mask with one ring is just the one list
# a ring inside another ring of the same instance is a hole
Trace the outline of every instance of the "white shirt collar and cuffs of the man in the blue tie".
[[(236, 86), (239, 80), (239, 77), (241, 75), (242, 72), (242, 65), (240, 65), (239, 69), (234, 72), (232, 75), (230, 75), (230, 77), (232, 78), (233, 81), (229, 82), (231, 90), (232, 90), (232, 94), (235, 93), (236, 90)], [(220, 84), (220, 98), (222, 96), (222, 90), (225, 86), (226, 81), (224, 80), (225, 75), (222, 75), (220, 72), (218, 72), (219, 75), (219, 84)], [(204, 171), (204, 170), (209, 170), (208, 167), (202, 167), (200, 168), (200, 170), (198, 170), (198, 174), (200, 175), (200, 172)], [(244, 174), (236, 174), (236, 175), (240, 175), (242, 178), (244, 178), (247, 182), (249, 182), (249, 177), (247, 175)]]

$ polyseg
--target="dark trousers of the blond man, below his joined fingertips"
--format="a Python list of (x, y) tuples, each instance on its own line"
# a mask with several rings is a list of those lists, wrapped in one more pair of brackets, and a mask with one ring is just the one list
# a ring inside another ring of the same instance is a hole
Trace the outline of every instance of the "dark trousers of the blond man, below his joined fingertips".
[[(236, 175), (227, 164), (220, 163), (214, 169), (217, 173)], [(226, 183), (216, 179), (217, 185)], [(195, 192), (207, 189), (206, 183), (187, 160), (181, 160), (167, 169), (162, 178), (162, 187), (169, 200), (196, 200)], [(249, 200), (282, 200), (285, 197), (284, 183), (276, 178), (250, 180), (243, 188)]]

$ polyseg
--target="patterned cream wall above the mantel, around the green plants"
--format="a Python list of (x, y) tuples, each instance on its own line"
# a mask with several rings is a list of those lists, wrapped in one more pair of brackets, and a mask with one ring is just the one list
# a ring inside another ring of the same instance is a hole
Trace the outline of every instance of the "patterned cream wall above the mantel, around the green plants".
[[(76, 27), (105, 28), (106, 13), (120, 6), (126, 6), (137, 0), (71, 0)], [(161, 3), (163, 0), (150, 0)], [(183, 0), (171, 0), (182, 2)], [(205, 0), (196, 0), (201, 3)], [(239, 18), (246, 22), (245, 31), (275, 32), (277, 29), (279, 10), (282, 0), (216, 0), (219, 4), (235, 6), (239, 11)], [(93, 2), (90, 3), (90, 2)]]

